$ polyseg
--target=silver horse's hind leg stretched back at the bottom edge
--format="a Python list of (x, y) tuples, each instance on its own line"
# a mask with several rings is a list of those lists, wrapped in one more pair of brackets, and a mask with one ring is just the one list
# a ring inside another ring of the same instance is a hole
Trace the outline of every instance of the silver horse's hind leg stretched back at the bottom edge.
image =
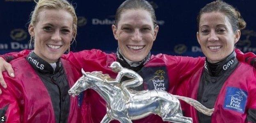
[(185, 116), (180, 116), (180, 115), (175, 115), (167, 118), (163, 118), (163, 121), (170, 121), (172, 123), (192, 123), (192, 118), (190, 117), (185, 117)]

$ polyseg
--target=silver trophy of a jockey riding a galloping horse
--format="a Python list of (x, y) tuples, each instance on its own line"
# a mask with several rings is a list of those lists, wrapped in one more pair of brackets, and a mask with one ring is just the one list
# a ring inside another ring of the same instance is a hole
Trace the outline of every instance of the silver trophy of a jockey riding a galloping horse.
[[(131, 87), (143, 83), (142, 77), (135, 71), (123, 68), (119, 62), (113, 62), (110, 68), (118, 73), (116, 79), (102, 72), (90, 73), (82, 69), (82, 77), (69, 90), (71, 96), (76, 96), (87, 89), (94, 89), (101, 95), (107, 103), (107, 114), (101, 123), (109, 123), (114, 119), (121, 123), (132, 123), (132, 120), (144, 118), (152, 113), (161, 116), (163, 121), (192, 123), (192, 118), (183, 116), (178, 99), (192, 105), (203, 114), (213, 114), (214, 109), (208, 109), (192, 98), (172, 95), (161, 90), (132, 90)], [(123, 76), (131, 80), (120, 82)]]

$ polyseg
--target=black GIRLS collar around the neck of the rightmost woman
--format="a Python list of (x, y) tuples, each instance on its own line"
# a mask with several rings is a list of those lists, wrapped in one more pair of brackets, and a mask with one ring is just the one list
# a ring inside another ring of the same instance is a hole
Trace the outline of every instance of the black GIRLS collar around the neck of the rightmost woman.
[(229, 71), (230, 69), (236, 67), (237, 64), (238, 60), (236, 59), (236, 54), (233, 51), (228, 57), (214, 64), (208, 62), (208, 59), (206, 58), (204, 67), (211, 76), (219, 76), (225, 71)]

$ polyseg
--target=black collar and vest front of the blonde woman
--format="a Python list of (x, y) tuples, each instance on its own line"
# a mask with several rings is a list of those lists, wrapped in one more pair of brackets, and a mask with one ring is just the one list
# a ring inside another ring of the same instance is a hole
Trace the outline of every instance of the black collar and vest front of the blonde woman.
[(27, 61), (35, 69), (50, 95), (56, 123), (67, 123), (70, 107), (69, 82), (61, 61), (56, 62), (54, 69), (34, 52), (30, 52)]

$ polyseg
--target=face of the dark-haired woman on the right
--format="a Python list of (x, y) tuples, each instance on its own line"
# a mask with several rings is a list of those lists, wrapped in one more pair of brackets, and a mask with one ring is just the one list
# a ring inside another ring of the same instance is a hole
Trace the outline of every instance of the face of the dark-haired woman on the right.
[(240, 30), (233, 31), (228, 16), (222, 12), (201, 15), (197, 39), (210, 63), (226, 58), (240, 39)]

